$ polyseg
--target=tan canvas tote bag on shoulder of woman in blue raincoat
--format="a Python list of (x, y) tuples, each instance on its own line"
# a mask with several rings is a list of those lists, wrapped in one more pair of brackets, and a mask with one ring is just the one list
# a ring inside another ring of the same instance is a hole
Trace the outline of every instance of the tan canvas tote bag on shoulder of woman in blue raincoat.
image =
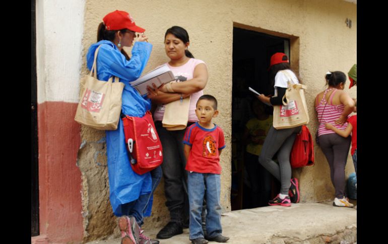
[(107, 82), (97, 79), (97, 54), (101, 45), (94, 53), (94, 62), (90, 75), (80, 80), (80, 102), (76, 117), (80, 124), (98, 129), (115, 130), (121, 111), (121, 96), (124, 84), (113, 76)]

